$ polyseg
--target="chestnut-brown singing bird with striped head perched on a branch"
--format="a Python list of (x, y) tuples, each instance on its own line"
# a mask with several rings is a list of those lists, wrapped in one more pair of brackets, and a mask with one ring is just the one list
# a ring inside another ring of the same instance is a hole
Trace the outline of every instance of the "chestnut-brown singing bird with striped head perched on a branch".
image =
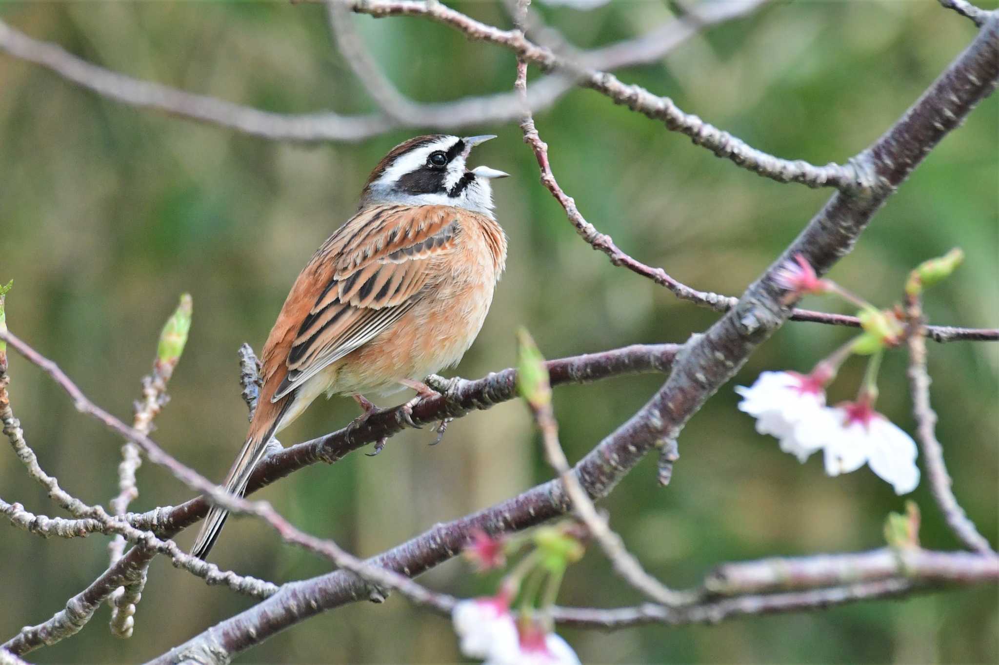
[[(357, 400), (415, 388), (453, 366), (486, 320), (506, 263), (491, 181), (468, 169), (494, 135), (419, 136), (393, 148), (365, 184), (357, 213), (299, 274), (261, 355), (261, 389), (246, 441), (224, 487), (242, 496), (268, 443), (324, 392)], [(191, 553), (204, 559), (225, 524), (213, 506)]]

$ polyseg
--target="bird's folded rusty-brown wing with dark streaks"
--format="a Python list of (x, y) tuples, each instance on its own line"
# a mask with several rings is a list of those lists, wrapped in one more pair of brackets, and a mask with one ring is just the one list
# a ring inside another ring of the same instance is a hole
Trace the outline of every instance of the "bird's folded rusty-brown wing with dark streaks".
[(379, 206), (338, 229), (299, 276), (279, 316), (280, 322), (292, 307), (289, 317), (302, 323), (287, 325), (280, 335), (287, 373), (271, 400), (406, 314), (423, 298), (435, 260), (452, 251), (461, 230), (460, 212), (449, 206)]

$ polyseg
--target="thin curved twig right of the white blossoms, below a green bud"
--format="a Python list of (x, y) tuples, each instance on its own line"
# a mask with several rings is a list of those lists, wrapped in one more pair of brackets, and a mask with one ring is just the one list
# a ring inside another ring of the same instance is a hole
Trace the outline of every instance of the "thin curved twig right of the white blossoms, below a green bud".
[(926, 338), (923, 327), (922, 300), (907, 297), (910, 334), (909, 388), (912, 392), (912, 413), (916, 418), (916, 438), (923, 449), (923, 465), (930, 482), (930, 491), (943, 513), (947, 525), (966, 547), (982, 554), (994, 553), (975, 523), (968, 518), (951, 488), (950, 474), (943, 460), (943, 446), (936, 437), (937, 415), (930, 405), (930, 375), (926, 370)]

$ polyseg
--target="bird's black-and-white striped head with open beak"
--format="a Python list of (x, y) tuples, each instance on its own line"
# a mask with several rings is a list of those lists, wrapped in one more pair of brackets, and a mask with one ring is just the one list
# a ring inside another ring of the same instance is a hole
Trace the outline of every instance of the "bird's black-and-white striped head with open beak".
[(493, 216), (490, 181), (509, 174), (487, 166), (466, 168), (472, 149), (495, 136), (418, 136), (401, 143), (372, 172), (361, 207), (376, 204), (456, 206)]

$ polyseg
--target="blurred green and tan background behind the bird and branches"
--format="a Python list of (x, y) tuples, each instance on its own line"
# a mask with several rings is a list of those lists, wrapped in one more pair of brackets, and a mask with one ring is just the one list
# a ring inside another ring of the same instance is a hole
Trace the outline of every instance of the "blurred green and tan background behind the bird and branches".
[[(463, 11), (508, 26), (498, 3)], [(660, 2), (614, 2), (592, 12), (539, 7), (581, 47), (640, 34), (670, 19)], [(144, 79), (274, 111), (373, 110), (331, 44), (324, 10), (283, 2), (0, 2), (0, 17), (87, 60)], [(421, 101), (508, 90), (513, 57), (420, 19), (355, 18), (403, 92)], [(779, 156), (842, 162), (898, 118), (973, 38), (972, 24), (930, 0), (796, 2), (713, 28), (625, 81), (671, 96), (680, 108)], [(533, 72), (532, 72), (533, 75)], [(738, 294), (829, 196), (780, 185), (717, 160), (657, 123), (589, 91), (574, 91), (537, 125), (553, 168), (579, 209), (637, 259), (699, 289)], [(434, 130), (430, 127), (428, 130)], [(0, 54), (0, 282), (13, 278), (10, 329), (56, 359), (98, 403), (130, 416), (139, 378), (178, 294), (194, 297), (194, 327), (155, 438), (180, 459), (221, 477), (243, 439), (236, 349), (263, 343), (292, 281), (356, 206), (368, 172), (417, 131), (356, 145), (273, 143), (121, 106)], [(549, 357), (632, 342), (682, 341), (716, 314), (615, 269), (586, 248), (537, 182), (515, 123), (469, 128), (500, 138), (477, 164), (511, 173), (497, 183), (509, 236), (507, 272), (478, 341), (458, 373), (512, 363), (513, 331), (526, 326)], [(999, 102), (993, 97), (947, 137), (877, 216), (832, 277), (868, 299), (898, 298), (919, 261), (960, 246), (960, 272), (928, 296), (937, 323), (999, 323)], [(807, 305), (844, 312), (833, 300)], [(739, 374), (807, 370), (848, 337), (794, 324)], [(996, 420), (999, 347), (933, 344), (939, 435), (959, 499), (997, 539)], [(909, 431), (905, 357), (890, 353), (880, 408)], [(11, 394), (42, 464), (89, 502), (115, 491), (120, 441), (78, 415), (39, 370), (11, 360)], [(832, 399), (849, 397), (862, 363), (846, 365)], [(639, 407), (661, 376), (628, 376), (556, 390), (570, 458)], [(753, 431), (724, 387), (680, 438), (672, 484), (656, 486), (646, 459), (605, 501), (612, 524), (648, 569), (695, 584), (721, 561), (858, 550), (882, 544), (881, 525), (903, 499), (866, 467), (829, 478)], [(330, 431), (357, 414), (353, 401), (321, 401), (282, 436)], [(296, 473), (266, 491), (293, 522), (371, 555), (440, 520), (488, 506), (551, 476), (522, 404), (455, 422), (442, 445), (428, 430), (393, 438), (376, 458), (355, 453)], [(191, 495), (164, 470), (139, 472), (133, 509)], [(0, 454), (0, 491), (28, 509), (59, 514), (12, 454)], [(926, 546), (955, 548), (924, 481)], [(183, 546), (192, 535), (180, 536)], [(0, 528), (0, 638), (60, 609), (106, 564), (104, 537), (42, 539)], [(230, 523), (213, 558), (277, 582), (329, 569), (282, 547), (265, 526)], [(423, 581), (469, 595), (494, 588), (451, 562)], [(571, 568), (560, 601), (611, 606), (640, 600), (596, 551)], [(107, 631), (107, 609), (82, 633), (32, 653), (38, 662), (145, 660), (252, 601), (172, 568), (152, 567), (128, 641)], [(587, 662), (995, 662), (994, 587), (949, 591), (826, 612), (749, 618), (718, 626), (650, 626), (613, 633), (565, 630)], [(239, 662), (435, 663), (460, 660), (449, 623), (392, 597), (359, 603), (286, 631)]]

